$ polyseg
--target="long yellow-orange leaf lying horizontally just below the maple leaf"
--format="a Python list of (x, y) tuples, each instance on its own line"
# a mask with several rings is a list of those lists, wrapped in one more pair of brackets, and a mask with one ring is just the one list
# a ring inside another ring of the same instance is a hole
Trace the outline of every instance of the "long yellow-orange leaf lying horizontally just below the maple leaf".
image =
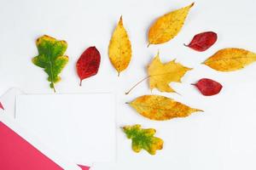
[(156, 121), (185, 117), (195, 111), (201, 111), (160, 95), (143, 95), (133, 100), (129, 105), (142, 116)]

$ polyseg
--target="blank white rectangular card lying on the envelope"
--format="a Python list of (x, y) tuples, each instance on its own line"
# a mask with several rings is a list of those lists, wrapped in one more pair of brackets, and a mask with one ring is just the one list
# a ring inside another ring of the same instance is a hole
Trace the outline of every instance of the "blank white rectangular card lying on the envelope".
[(115, 159), (113, 94), (18, 95), (16, 120), (72, 161)]

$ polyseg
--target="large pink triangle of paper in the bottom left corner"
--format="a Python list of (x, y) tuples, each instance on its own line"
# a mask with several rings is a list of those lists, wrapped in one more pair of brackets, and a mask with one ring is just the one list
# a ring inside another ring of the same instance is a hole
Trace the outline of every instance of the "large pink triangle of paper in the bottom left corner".
[(0, 122), (1, 170), (62, 170), (32, 144)]

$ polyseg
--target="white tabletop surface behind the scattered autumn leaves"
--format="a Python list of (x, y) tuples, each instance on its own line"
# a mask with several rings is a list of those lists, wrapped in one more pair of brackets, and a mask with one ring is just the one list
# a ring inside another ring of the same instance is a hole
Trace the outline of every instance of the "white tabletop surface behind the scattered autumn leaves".
[[(70, 60), (56, 85), (57, 93), (113, 92), (117, 95), (117, 163), (96, 164), (98, 170), (175, 169), (241, 170), (256, 169), (256, 64), (241, 71), (213, 71), (201, 62), (220, 48), (246, 48), (256, 52), (256, 2), (253, 0), (197, 0), (183, 30), (171, 42), (147, 48), (147, 31), (154, 19), (173, 9), (189, 5), (180, 0), (1, 0), (0, 1), (0, 93), (18, 87), (26, 93), (51, 94), (46, 74), (32, 65), (37, 55), (35, 40), (44, 34), (68, 42)], [(114, 26), (123, 15), (131, 38), (132, 59), (128, 69), (117, 77), (108, 59), (108, 42)], [(207, 52), (199, 53), (183, 46), (201, 31), (216, 31), (218, 42)], [(84, 80), (79, 87), (75, 63), (85, 48), (96, 46), (102, 63), (96, 77)], [(177, 93), (162, 94), (205, 112), (166, 122), (150, 121), (133, 111), (126, 101), (151, 94), (143, 82), (130, 95), (125, 91), (146, 77), (146, 65), (157, 50), (163, 61), (177, 59), (195, 68), (172, 83)], [(190, 85), (209, 77), (224, 86), (220, 94), (202, 96)], [(86, 108), (84, 108), (86, 110)], [(140, 123), (154, 127), (164, 139), (164, 149), (150, 156), (131, 150), (120, 126)]]

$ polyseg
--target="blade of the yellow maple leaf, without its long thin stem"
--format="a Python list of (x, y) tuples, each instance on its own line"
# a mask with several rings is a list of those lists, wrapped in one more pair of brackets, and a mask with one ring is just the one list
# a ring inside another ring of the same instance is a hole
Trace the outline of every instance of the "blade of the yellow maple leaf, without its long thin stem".
[(170, 82), (181, 82), (181, 78), (191, 69), (175, 62), (175, 59), (163, 64), (160, 61), (159, 53), (148, 65), (148, 77), (150, 89), (158, 88), (160, 92), (175, 92)]

